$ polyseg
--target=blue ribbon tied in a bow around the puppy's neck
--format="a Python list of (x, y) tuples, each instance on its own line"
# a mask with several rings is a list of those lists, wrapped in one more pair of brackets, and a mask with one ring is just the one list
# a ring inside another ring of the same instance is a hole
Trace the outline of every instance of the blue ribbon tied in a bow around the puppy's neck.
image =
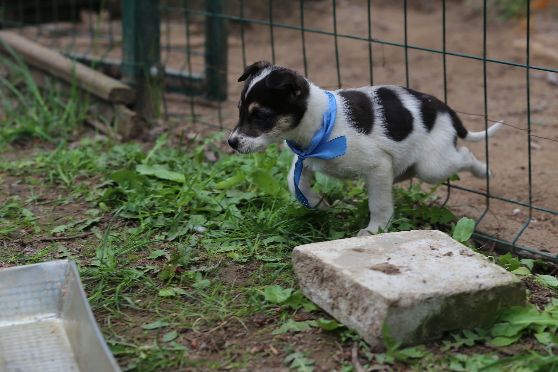
[(329, 96), (328, 110), (324, 113), (324, 123), (319, 131), (314, 134), (314, 137), (312, 137), (310, 146), (304, 149), (295, 146), (291, 141), (285, 141), (292, 152), (299, 156), (295, 163), (295, 196), (296, 199), (307, 208), (310, 208), (308, 199), (306, 199), (306, 196), (304, 196), (299, 189), (302, 162), (306, 158), (331, 159), (347, 152), (347, 139), (345, 136), (328, 141), (331, 131), (333, 130), (333, 124), (335, 124), (335, 117), (337, 116), (337, 103), (335, 102), (335, 96), (333, 94), (329, 93), (329, 91), (325, 93)]

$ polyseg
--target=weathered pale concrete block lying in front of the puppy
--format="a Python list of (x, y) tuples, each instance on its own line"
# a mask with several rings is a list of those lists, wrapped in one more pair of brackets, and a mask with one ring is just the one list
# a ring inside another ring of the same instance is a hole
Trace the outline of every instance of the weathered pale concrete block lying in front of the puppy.
[(373, 346), (383, 345), (384, 320), (413, 345), (525, 304), (514, 274), (436, 230), (300, 245), (292, 263), (302, 293)]

